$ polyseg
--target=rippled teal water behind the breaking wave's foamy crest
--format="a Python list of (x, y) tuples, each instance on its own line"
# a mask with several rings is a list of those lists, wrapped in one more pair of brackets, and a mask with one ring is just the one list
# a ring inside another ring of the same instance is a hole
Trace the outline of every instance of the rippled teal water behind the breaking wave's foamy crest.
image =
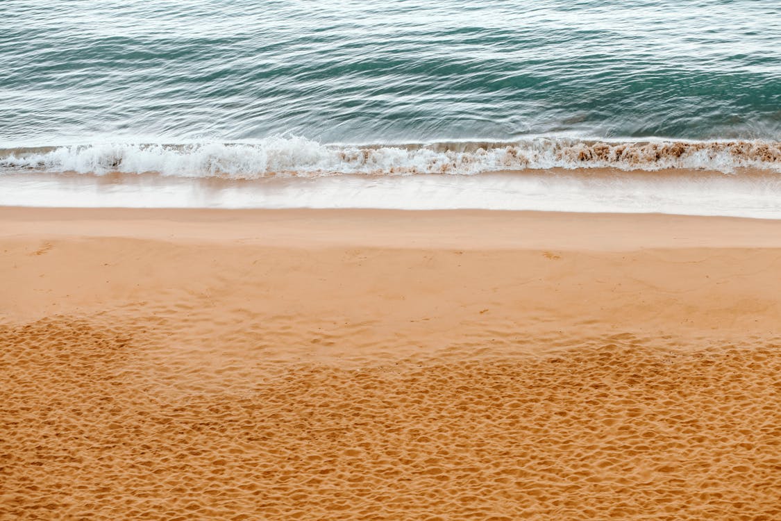
[(776, 141), (779, 35), (777, 0), (4, 0), (0, 148)]

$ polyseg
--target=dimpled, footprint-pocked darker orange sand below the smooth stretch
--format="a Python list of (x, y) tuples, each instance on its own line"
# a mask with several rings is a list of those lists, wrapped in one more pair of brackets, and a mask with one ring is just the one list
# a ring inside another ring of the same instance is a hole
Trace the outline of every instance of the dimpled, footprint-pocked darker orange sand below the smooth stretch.
[(251, 392), (171, 397), (132, 371), (133, 337), (70, 317), (2, 330), (6, 515), (781, 516), (781, 344), (291, 363)]

